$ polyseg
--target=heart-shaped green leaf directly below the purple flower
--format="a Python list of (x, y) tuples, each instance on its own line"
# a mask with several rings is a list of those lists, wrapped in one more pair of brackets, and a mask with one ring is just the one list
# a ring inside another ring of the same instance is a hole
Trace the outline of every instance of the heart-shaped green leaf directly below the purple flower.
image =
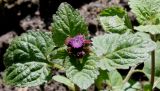
[(94, 80), (99, 75), (94, 59), (83, 59), (82, 64), (77, 64), (80, 60), (73, 58), (66, 59), (66, 76), (81, 89), (87, 89), (94, 83)]

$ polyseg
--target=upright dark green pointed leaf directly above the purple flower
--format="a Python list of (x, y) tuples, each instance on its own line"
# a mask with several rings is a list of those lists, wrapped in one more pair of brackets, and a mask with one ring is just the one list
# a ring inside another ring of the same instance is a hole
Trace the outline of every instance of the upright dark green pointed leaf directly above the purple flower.
[(62, 3), (53, 15), (53, 40), (56, 46), (62, 46), (67, 37), (88, 34), (87, 25), (78, 10), (67, 3)]

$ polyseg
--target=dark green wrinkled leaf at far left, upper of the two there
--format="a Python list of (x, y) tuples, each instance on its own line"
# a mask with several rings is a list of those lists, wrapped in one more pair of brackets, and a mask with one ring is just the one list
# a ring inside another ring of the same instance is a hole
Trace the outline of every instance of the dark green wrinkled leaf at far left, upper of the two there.
[(32, 60), (48, 62), (47, 57), (55, 47), (50, 32), (29, 31), (15, 38), (4, 55), (5, 66)]

